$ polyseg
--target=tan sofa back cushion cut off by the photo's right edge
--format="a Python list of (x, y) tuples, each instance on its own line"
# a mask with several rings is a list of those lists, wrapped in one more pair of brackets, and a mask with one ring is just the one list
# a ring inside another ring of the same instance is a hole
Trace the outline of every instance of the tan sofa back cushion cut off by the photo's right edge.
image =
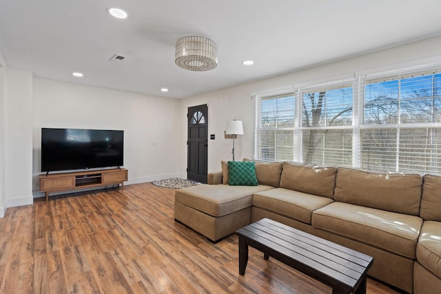
[(441, 177), (424, 176), (420, 216), (424, 220), (441, 221)]

